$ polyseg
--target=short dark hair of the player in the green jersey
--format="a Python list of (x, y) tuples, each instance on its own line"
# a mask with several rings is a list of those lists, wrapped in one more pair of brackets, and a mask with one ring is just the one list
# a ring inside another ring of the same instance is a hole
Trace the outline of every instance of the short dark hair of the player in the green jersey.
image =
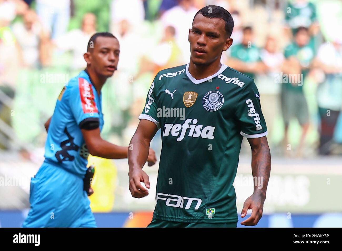
[(209, 18), (217, 17), (223, 19), (225, 22), (226, 34), (228, 37), (231, 37), (234, 28), (234, 21), (231, 13), (229, 13), (226, 9), (217, 5), (208, 5), (197, 11), (194, 19), (197, 14), (202, 14), (203, 16)]

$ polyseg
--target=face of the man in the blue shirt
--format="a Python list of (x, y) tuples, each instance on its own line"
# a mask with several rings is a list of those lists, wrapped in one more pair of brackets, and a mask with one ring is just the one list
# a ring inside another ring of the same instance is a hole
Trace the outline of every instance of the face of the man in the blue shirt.
[(90, 53), (90, 66), (96, 74), (111, 77), (119, 62), (120, 45), (116, 38), (97, 37)]

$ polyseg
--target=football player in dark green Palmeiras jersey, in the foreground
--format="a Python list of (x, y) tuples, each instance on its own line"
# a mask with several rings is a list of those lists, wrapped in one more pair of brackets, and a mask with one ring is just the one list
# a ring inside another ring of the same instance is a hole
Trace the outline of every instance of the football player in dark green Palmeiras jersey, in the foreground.
[[(252, 148), (254, 185), (241, 212), (242, 225), (256, 225), (263, 212), (271, 171), (267, 128), (253, 79), (220, 63), (233, 43), (233, 19), (209, 5), (197, 12), (189, 29), (190, 63), (158, 72), (129, 150), (129, 189), (135, 198), (148, 195), (142, 170), (149, 144), (161, 129), (162, 149), (156, 208), (148, 227), (236, 227), (233, 182), (241, 141)], [(141, 185), (145, 184), (145, 187)]]

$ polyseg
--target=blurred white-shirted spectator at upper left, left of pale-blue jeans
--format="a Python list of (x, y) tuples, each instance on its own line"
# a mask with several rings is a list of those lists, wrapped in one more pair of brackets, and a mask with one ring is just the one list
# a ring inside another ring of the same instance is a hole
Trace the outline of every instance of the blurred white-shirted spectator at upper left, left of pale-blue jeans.
[(12, 29), (21, 48), (22, 65), (38, 67), (39, 45), (44, 34), (36, 13), (31, 9), (26, 11), (23, 22), (16, 22)]

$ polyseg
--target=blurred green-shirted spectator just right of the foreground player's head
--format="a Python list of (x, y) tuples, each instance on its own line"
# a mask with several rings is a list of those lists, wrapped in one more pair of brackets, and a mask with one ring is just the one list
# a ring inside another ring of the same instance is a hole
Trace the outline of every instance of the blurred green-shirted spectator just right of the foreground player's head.
[[(243, 29), (242, 41), (232, 46), (228, 66), (254, 79), (256, 73), (263, 73), (267, 69), (260, 59), (260, 50), (252, 43), (253, 30), (251, 27)], [(234, 43), (234, 41), (233, 41)]]

